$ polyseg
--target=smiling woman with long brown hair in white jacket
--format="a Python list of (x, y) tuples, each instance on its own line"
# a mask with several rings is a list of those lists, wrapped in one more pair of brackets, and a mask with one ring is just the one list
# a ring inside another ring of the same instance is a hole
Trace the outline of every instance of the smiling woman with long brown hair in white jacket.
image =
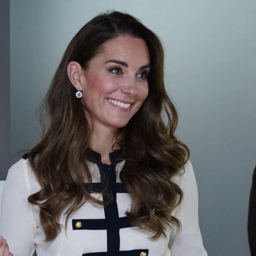
[(0, 230), (15, 256), (207, 255), (163, 60), (128, 14), (75, 35), (46, 96), (48, 130), (8, 172)]

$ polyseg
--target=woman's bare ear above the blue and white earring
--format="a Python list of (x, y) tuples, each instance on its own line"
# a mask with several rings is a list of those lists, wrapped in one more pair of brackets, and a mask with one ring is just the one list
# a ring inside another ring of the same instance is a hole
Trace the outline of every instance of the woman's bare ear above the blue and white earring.
[(76, 90), (83, 90), (81, 75), (83, 75), (83, 68), (81, 65), (72, 60), (67, 67), (68, 78)]

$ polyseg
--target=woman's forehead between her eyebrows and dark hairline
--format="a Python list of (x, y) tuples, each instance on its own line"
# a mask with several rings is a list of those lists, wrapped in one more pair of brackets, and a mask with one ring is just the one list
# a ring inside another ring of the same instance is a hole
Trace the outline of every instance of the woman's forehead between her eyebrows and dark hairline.
[(141, 38), (129, 35), (106, 41), (101, 45), (98, 54), (94, 58), (123, 60), (128, 64), (129, 62), (138, 65), (150, 64), (150, 54), (146, 42)]

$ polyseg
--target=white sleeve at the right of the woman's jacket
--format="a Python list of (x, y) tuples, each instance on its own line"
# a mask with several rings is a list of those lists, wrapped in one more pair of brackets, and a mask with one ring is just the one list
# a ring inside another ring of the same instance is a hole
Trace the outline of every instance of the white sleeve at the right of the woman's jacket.
[(191, 162), (187, 162), (180, 176), (183, 199), (177, 208), (176, 218), (181, 222), (181, 230), (173, 226), (169, 248), (172, 256), (207, 256), (203, 247), (198, 219), (198, 191)]

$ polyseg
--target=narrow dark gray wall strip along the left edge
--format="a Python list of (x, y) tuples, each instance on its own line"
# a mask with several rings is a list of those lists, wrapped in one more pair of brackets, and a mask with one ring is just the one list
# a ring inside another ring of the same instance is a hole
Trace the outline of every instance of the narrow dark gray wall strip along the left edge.
[(10, 166), (9, 1), (0, 0), (0, 180)]

